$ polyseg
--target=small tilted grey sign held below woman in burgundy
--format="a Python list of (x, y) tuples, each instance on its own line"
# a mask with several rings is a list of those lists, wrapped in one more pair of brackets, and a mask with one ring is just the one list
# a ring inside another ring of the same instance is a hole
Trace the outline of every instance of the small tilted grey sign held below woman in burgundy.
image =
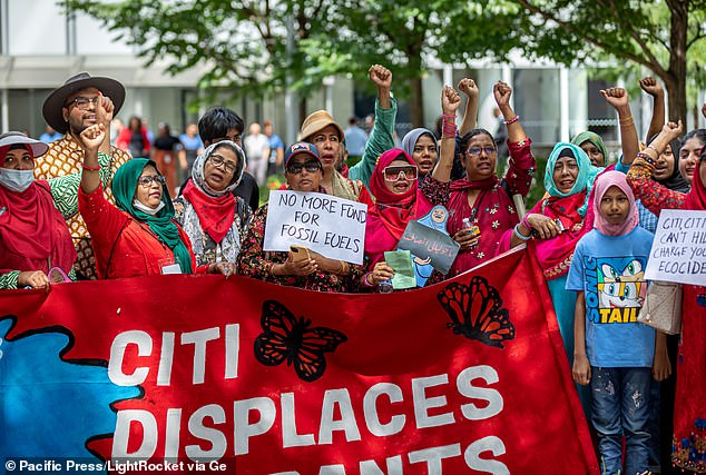
[(428, 260), (441, 274), (448, 274), (461, 246), (449, 235), (410, 221), (398, 244), (399, 249), (409, 250), (415, 258)]

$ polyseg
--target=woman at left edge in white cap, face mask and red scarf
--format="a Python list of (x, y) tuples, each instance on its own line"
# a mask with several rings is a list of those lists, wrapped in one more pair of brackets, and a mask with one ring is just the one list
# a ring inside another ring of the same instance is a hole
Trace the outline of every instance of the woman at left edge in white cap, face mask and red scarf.
[(52, 196), (60, 196), (71, 178), (57, 178), (51, 186), (35, 180), (35, 159), (47, 150), (21, 132), (0, 136), (0, 288), (46, 288), (52, 267), (66, 274), (76, 260)]

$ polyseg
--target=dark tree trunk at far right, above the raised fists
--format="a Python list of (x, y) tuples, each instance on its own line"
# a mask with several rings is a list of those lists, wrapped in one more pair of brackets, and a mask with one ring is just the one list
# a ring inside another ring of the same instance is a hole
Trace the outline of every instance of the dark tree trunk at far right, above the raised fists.
[[(670, 1), (671, 30), (669, 33), (669, 95), (670, 121), (686, 120), (686, 33), (689, 20), (688, 1)], [(685, 123), (686, 127), (686, 123)]]

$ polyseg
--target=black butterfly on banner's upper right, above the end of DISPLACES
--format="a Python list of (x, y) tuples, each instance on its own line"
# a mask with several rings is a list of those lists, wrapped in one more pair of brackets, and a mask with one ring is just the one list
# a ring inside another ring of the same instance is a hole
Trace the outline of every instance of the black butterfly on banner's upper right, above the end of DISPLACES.
[(502, 298), (483, 277), (474, 276), (470, 285), (449, 284), (437, 296), (451, 317), (447, 327), (489, 346), (502, 348), (502, 342), (514, 338), (514, 326)]

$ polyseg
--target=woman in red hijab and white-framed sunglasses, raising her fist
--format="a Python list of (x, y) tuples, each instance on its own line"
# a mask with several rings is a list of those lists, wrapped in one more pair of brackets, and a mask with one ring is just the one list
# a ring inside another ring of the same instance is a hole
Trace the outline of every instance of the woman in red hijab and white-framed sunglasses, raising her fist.
[(428, 214), (434, 205), (449, 200), (449, 180), (453, 167), (455, 111), (461, 98), (450, 86), (441, 93), (444, 130), (440, 161), (431, 175), (416, 186), (416, 164), (404, 150), (392, 149), (380, 156), (370, 179), (375, 204), (370, 207), (365, 224), (365, 257), (371, 271), (363, 276), (367, 287), (392, 278), (394, 271), (384, 261), (384, 253), (394, 250), (409, 221)]

